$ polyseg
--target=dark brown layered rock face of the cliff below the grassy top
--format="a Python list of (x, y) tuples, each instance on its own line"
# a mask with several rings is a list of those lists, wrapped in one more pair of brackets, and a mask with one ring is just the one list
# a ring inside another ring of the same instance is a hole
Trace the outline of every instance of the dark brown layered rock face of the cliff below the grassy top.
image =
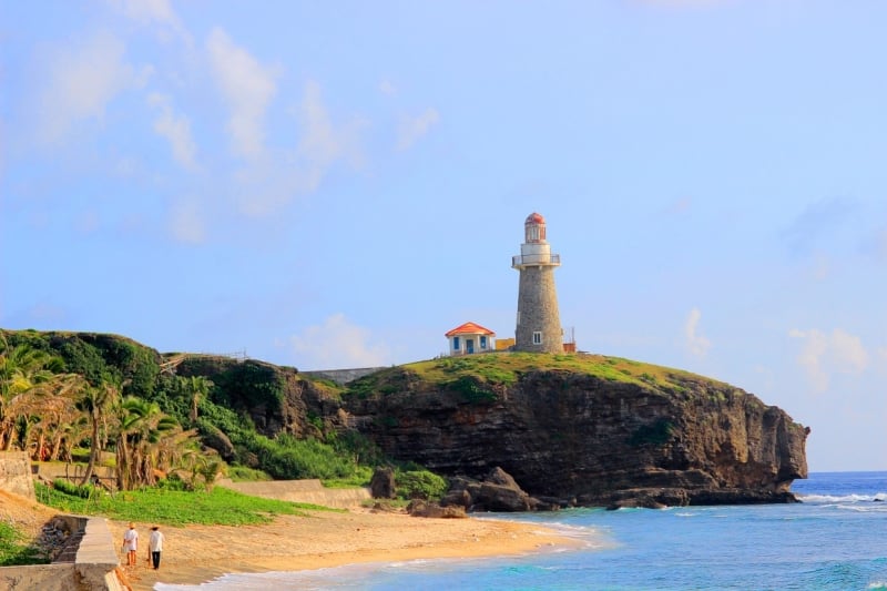
[(345, 408), (395, 458), (471, 478), (502, 467), (561, 505), (786, 502), (807, 475), (809, 429), (699, 376), (663, 386), (537, 370), (511, 386), (452, 384), (427, 390), (401, 369)]

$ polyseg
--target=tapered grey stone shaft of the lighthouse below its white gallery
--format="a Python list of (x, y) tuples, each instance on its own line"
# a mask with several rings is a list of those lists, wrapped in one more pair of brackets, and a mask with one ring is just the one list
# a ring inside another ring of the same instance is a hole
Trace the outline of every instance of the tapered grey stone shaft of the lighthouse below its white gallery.
[[(554, 266), (528, 266), (520, 269), (518, 286), (518, 325), (514, 350), (563, 353), (563, 334), (554, 288)], [(542, 333), (542, 343), (533, 344), (533, 333)]]

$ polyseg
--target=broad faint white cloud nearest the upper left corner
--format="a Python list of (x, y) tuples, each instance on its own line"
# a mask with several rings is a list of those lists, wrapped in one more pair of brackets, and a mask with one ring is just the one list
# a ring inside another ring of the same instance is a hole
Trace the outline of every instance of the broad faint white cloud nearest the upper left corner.
[(136, 73), (123, 60), (125, 51), (123, 41), (102, 32), (50, 58), (49, 81), (39, 100), (42, 142), (61, 142), (80, 121), (101, 122), (108, 103), (119, 93), (144, 85), (151, 68)]

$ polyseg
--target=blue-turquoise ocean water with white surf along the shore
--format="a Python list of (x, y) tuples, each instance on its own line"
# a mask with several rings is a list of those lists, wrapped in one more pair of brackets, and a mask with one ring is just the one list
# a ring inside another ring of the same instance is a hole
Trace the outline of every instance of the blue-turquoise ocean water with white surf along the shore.
[(226, 574), (157, 591), (887, 590), (887, 472), (816, 472), (803, 502), (495, 514), (557, 528), (581, 550)]

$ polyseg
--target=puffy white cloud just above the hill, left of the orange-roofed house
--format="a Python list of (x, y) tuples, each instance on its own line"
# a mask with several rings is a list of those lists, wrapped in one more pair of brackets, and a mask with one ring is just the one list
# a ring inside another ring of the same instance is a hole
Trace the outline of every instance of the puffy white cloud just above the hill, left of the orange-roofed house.
[(306, 370), (387, 365), (388, 347), (369, 340), (369, 330), (349, 324), (341, 313), (290, 337), (296, 366)]

